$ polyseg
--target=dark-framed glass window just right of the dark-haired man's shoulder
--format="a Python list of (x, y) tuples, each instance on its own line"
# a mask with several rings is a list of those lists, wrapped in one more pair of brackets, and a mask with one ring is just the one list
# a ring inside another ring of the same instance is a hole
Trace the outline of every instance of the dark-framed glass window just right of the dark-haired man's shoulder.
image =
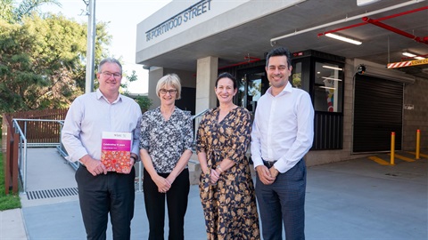
[(315, 75), (315, 110), (342, 112), (343, 68), (336, 64), (317, 61)]

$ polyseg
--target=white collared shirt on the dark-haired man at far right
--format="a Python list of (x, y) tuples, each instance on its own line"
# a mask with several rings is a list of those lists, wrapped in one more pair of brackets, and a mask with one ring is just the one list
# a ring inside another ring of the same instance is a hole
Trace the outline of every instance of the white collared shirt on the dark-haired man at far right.
[[(287, 83), (275, 97), (272, 88), (259, 99), (251, 132), (254, 168), (263, 160), (277, 161), (287, 172), (305, 156), (314, 139), (314, 108), (308, 92)], [(262, 160), (263, 159), (263, 160)]]

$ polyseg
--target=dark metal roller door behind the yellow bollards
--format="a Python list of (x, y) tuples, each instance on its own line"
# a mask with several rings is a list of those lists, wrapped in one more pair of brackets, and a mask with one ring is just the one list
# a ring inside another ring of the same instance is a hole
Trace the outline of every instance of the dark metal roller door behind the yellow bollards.
[(356, 75), (354, 99), (354, 153), (401, 149), (404, 85), (375, 76)]

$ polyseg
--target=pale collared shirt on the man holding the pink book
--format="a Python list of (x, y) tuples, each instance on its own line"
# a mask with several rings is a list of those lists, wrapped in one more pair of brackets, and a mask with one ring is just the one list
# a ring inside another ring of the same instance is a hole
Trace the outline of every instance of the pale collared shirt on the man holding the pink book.
[(101, 159), (103, 132), (132, 132), (131, 152), (139, 156), (139, 124), (141, 108), (126, 96), (120, 95), (110, 103), (98, 89), (78, 96), (69, 108), (62, 128), (62, 144), (68, 160), (78, 161), (88, 154)]

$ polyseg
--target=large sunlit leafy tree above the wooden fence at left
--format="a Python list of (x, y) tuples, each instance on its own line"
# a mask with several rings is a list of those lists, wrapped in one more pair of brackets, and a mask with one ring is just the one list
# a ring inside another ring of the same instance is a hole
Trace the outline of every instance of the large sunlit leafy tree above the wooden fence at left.
[[(62, 15), (37, 14), (21, 23), (0, 20), (0, 113), (66, 108), (84, 92), (86, 25)], [(111, 36), (96, 26), (95, 59)]]

